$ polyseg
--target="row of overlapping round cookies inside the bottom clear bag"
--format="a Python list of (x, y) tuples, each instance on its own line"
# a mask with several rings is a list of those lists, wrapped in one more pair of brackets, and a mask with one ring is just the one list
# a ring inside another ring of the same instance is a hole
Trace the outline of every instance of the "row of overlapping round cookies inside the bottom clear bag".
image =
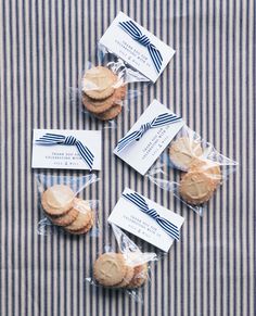
[(108, 252), (94, 262), (93, 276), (103, 287), (136, 289), (148, 280), (148, 264), (130, 265), (121, 253)]

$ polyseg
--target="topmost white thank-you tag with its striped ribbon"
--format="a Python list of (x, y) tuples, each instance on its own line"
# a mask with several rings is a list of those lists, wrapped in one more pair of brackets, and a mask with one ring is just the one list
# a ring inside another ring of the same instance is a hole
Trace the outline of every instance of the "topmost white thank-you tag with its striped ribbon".
[[(120, 23), (127, 23), (123, 27)], [(146, 43), (146, 45), (145, 45)], [(106, 29), (100, 45), (121, 58), (129, 65), (155, 83), (175, 54), (175, 50), (119, 12)]]

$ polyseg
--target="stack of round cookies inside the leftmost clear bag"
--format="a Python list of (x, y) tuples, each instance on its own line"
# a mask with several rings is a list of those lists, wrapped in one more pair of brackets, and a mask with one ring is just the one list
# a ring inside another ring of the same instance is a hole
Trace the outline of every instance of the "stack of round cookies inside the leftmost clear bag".
[(41, 197), (42, 207), (52, 224), (74, 235), (86, 233), (94, 223), (93, 211), (85, 200), (77, 199), (64, 185), (48, 188)]

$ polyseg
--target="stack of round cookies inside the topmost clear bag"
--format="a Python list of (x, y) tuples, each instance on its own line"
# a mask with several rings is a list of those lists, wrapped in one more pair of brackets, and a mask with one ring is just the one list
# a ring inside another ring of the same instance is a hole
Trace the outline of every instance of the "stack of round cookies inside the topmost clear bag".
[(108, 121), (120, 114), (126, 86), (107, 67), (88, 69), (81, 80), (81, 90), (84, 106), (97, 118)]

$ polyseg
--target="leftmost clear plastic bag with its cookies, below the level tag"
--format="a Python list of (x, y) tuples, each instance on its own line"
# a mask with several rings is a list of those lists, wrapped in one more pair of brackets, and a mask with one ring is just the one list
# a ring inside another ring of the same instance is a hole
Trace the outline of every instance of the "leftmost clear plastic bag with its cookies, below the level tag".
[(63, 233), (99, 236), (100, 201), (78, 197), (99, 180), (94, 174), (80, 177), (37, 174), (36, 178), (39, 210), (46, 215), (38, 223), (38, 235), (49, 236), (61, 229)]

